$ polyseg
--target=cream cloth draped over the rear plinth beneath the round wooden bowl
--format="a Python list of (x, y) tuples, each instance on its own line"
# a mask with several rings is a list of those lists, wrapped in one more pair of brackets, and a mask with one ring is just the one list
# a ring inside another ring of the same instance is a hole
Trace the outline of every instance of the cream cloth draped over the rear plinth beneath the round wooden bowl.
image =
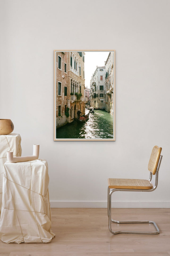
[(3, 165), (7, 161), (6, 152), (13, 152), (14, 156), (21, 156), (21, 136), (17, 133), (0, 135), (0, 216), (2, 207), (2, 185), (3, 185)]

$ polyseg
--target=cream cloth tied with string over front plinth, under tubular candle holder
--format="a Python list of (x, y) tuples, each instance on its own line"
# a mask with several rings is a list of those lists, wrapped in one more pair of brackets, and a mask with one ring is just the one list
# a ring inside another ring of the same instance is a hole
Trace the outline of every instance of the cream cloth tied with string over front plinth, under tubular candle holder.
[(37, 159), (4, 164), (0, 239), (5, 243), (48, 243), (51, 231), (48, 165)]

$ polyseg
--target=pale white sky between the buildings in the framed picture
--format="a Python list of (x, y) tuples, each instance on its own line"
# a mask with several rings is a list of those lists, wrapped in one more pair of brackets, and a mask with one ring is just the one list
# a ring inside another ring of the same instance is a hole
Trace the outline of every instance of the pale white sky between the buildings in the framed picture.
[(109, 51), (85, 51), (84, 56), (84, 76), (85, 86), (90, 88), (90, 80), (92, 74), (96, 70), (96, 66), (104, 66), (104, 61), (107, 60)]

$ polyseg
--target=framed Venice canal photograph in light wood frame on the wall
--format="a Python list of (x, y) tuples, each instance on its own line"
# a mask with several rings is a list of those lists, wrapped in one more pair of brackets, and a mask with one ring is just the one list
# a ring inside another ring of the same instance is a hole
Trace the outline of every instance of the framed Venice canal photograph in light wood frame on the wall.
[(115, 50), (54, 50), (54, 140), (115, 141)]

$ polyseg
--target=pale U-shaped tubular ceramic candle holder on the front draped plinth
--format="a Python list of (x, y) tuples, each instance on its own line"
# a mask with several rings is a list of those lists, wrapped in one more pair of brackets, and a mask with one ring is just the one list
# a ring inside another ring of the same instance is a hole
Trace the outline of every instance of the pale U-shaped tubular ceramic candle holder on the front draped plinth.
[(9, 163), (27, 162), (36, 160), (39, 157), (40, 145), (33, 145), (32, 156), (13, 156), (13, 152), (7, 152), (7, 161)]

